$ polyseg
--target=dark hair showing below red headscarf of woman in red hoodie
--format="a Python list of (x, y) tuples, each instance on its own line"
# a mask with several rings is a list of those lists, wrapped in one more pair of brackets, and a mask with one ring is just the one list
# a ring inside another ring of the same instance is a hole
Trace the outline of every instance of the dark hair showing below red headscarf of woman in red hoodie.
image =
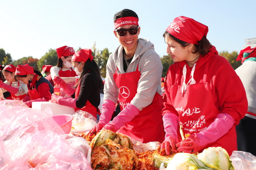
[[(176, 41), (177, 43), (179, 43), (182, 47), (187, 47), (190, 43), (187, 43), (185, 41), (182, 41), (180, 39), (177, 39), (176, 37), (174, 37), (172, 34), (170, 34), (169, 32), (165, 31), (163, 33), (163, 37), (169, 37), (170, 39)], [(209, 51), (209, 49), (212, 47), (210, 41), (203, 36), (202, 39), (199, 41), (199, 44), (195, 44), (195, 49), (193, 49), (194, 51), (192, 51), (193, 54), (196, 54), (197, 52), (202, 55), (202, 57), (204, 57)]]

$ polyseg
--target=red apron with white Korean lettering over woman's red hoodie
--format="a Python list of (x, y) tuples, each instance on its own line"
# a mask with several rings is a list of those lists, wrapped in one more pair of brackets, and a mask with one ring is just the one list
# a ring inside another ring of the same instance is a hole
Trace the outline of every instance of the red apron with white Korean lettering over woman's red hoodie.
[[(207, 129), (220, 113), (214, 104), (211, 87), (206, 82), (209, 63), (209, 61), (205, 63), (203, 82), (189, 84), (183, 97), (182, 86), (178, 85), (178, 74), (176, 74), (175, 84), (170, 89), (173, 107), (178, 112), (179, 124), (182, 125), (184, 134), (199, 133)], [(178, 67), (177, 72), (181, 72), (181, 67)], [(237, 150), (236, 140), (236, 128), (233, 126), (227, 134), (204, 147), (199, 153), (208, 147), (221, 146), (231, 155), (233, 150)]]

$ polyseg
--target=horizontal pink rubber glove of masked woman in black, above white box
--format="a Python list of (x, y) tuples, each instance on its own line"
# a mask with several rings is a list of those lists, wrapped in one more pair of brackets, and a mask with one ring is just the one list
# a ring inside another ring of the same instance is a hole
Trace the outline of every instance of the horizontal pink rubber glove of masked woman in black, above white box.
[(51, 101), (52, 103), (59, 103), (60, 105), (76, 108), (76, 99), (64, 98), (53, 93)]

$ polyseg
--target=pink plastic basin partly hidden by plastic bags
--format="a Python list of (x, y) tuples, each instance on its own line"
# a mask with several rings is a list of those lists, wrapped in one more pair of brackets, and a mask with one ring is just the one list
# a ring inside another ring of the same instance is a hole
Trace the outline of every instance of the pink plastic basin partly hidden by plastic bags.
[(73, 119), (72, 115), (55, 115), (55, 116), (52, 116), (52, 118), (64, 130), (65, 134), (69, 134), (72, 127), (72, 119)]

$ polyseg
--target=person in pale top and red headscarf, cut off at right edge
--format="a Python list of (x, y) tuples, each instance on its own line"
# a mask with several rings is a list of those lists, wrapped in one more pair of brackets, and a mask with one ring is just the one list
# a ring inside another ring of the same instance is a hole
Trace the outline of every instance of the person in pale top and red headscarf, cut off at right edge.
[(244, 85), (248, 110), (236, 126), (237, 150), (256, 155), (256, 47), (249, 46), (241, 50), (237, 57), (239, 60), (242, 60), (242, 65), (235, 71)]

